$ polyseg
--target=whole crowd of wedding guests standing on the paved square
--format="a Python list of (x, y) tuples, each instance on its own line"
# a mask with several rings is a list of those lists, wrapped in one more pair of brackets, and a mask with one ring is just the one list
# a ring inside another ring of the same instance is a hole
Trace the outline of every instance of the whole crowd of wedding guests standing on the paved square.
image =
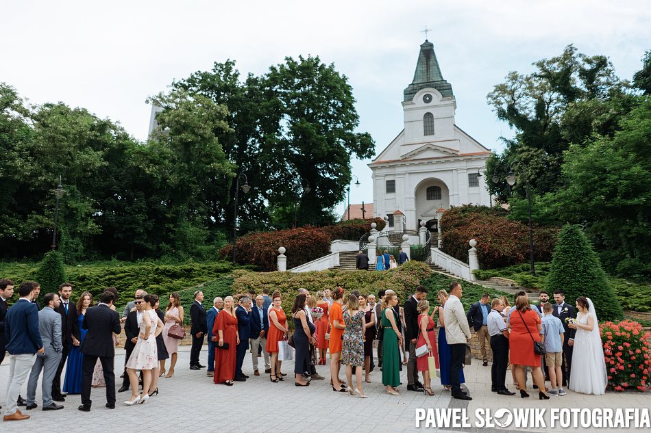
[[(47, 293), (43, 306), (36, 301), (38, 283), (22, 283), (18, 292), (20, 299), (8, 308), (6, 301), (14, 295), (14, 283), (0, 280), (0, 362), (5, 347), (11, 355), (5, 421), (29, 418), (19, 406), (27, 410), (38, 407), (35, 396), (41, 372), (42, 410), (62, 409), (56, 402), (64, 402), (66, 394), (81, 394), (79, 410), (89, 411), (91, 389), (100, 386), (106, 387), (106, 407), (114, 408), (114, 347), (121, 322), (126, 341), (119, 392), (132, 391), (124, 404), (146, 403), (158, 395), (158, 378), (173, 377), (178, 344), (184, 338), (184, 308), (178, 293), (170, 294), (162, 312), (158, 296), (137, 290), (119, 317), (114, 287), (101, 293), (97, 306), (88, 291), (80, 293), (73, 303), (70, 283), (60, 285), (58, 293)], [(452, 283), (449, 293), (439, 291), (433, 309), (427, 297), (423, 286), (402, 300), (402, 306), (392, 290), (380, 290), (376, 297), (357, 291), (346, 293), (343, 287), (317, 293), (298, 289), (291, 311), (286, 312), (281, 293), (269, 295), (264, 289), (257, 294), (251, 291), (214, 298), (206, 311), (204, 293), (196, 291), (190, 306), (189, 367), (206, 367), (199, 358), (207, 337), (206, 375), (215, 384), (232, 386), (248, 380), (243, 363), (249, 351), (254, 376), (260, 376), (258, 358), (264, 358), (269, 380), (283, 382), (286, 373), (282, 363), (291, 361), (295, 386), (303, 387), (311, 380), (325, 379), (315, 366), (326, 365), (330, 352), (332, 391), (367, 398), (363, 384), (371, 382), (370, 373), (376, 368), (373, 348), (377, 347), (377, 367), (382, 369), (387, 394), (400, 395), (400, 371), (406, 367), (408, 391), (434, 395), (432, 381), (437, 377), (452, 397), (471, 399), (461, 384), (465, 382), (464, 363), (469, 362), (470, 329), (474, 328), (484, 366), (488, 366), (487, 347), (493, 354), (491, 391), (515, 395), (506, 388), (506, 371), (511, 365), (513, 384), (521, 397), (529, 396), (528, 372), (533, 388), (539, 390), (539, 399), (565, 395), (566, 384), (582, 393), (604, 393), (605, 363), (598, 349), (598, 322), (589, 298), (576, 300), (576, 315), (560, 290), (554, 292), (553, 305), (544, 291), (541, 302), (535, 305), (524, 291), (516, 294), (514, 306), (506, 297), (491, 300), (484, 294), (467, 312), (460, 302), (460, 283)], [(291, 335), (290, 328), (294, 330)], [(573, 358), (576, 351), (580, 356)], [(571, 374), (572, 369), (580, 373)], [(545, 386), (545, 376), (550, 388)], [(23, 399), (25, 380), (27, 398)]]

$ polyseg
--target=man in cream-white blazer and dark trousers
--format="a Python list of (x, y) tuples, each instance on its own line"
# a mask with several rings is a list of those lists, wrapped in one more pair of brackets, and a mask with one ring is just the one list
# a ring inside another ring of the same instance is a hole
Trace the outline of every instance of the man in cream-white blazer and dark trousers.
[(459, 374), (463, 368), (466, 345), (470, 341), (470, 327), (466, 319), (465, 311), (460, 298), (463, 296), (463, 289), (460, 283), (450, 284), (450, 298), (445, 302), (443, 315), (445, 317), (445, 337), (450, 345), (450, 384), (452, 385), (452, 397), (460, 400), (471, 400), (464, 391), (461, 391)]

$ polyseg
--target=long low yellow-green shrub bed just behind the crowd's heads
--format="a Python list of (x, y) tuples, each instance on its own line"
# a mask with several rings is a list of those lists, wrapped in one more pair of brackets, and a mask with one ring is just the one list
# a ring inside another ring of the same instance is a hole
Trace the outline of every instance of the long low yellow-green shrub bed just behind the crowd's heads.
[(400, 302), (404, 302), (421, 280), (431, 274), (430, 268), (424, 263), (408, 261), (402, 266), (389, 271), (315, 271), (315, 272), (247, 272), (236, 270), (233, 283), (234, 293), (245, 293), (253, 289), (262, 293), (282, 293), (282, 307), (290, 311), (297, 289), (304, 287), (310, 293), (319, 290), (334, 289), (341, 286), (346, 293), (358, 290), (360, 293), (378, 293), (379, 290), (392, 289), (397, 293)]

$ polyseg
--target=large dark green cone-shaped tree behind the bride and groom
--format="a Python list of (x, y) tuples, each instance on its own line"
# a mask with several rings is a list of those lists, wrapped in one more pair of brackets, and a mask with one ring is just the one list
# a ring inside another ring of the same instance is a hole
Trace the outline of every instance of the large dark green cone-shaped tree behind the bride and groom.
[(578, 226), (566, 224), (558, 235), (545, 289), (550, 294), (556, 289), (563, 290), (565, 302), (573, 305), (579, 296), (590, 298), (600, 320), (623, 317), (622, 304), (597, 254)]

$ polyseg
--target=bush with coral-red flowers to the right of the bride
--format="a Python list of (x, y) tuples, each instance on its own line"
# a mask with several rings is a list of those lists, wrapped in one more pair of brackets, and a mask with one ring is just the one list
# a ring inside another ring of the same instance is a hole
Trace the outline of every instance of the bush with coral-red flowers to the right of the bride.
[(650, 335), (637, 322), (606, 322), (599, 326), (604, 344), (608, 388), (646, 391), (651, 377)]

